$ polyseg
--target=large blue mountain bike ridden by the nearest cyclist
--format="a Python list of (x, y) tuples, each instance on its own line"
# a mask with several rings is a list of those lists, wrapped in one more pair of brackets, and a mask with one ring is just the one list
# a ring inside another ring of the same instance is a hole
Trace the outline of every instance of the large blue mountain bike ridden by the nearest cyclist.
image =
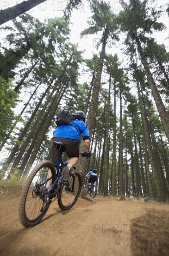
[[(68, 164), (68, 161), (62, 162), (65, 148), (62, 142), (54, 143), (59, 149), (57, 168), (50, 161), (40, 162), (32, 170), (22, 189), (19, 221), (26, 228), (37, 225), (56, 199), (60, 209), (72, 208), (81, 192), (81, 175), (75, 172), (75, 167), (69, 173), (70, 185), (63, 180), (62, 170)], [(80, 154), (83, 156), (83, 153)], [(52, 201), (53, 198), (55, 199)]]

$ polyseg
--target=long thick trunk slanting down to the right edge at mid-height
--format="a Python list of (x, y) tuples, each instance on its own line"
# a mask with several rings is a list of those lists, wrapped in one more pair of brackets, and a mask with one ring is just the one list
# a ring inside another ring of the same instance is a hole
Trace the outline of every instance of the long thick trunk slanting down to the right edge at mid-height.
[(164, 131), (166, 133), (166, 136), (168, 138), (168, 141), (169, 141), (169, 114), (167, 113), (167, 110), (163, 104), (163, 101), (162, 101), (162, 98), (158, 92), (158, 89), (156, 87), (156, 83), (153, 79), (153, 76), (150, 72), (150, 67), (146, 61), (146, 58), (145, 58), (145, 55), (144, 55), (144, 52), (143, 52), (143, 49), (141, 47), (141, 44), (140, 44), (140, 41), (138, 39), (138, 35), (136, 32), (134, 32), (134, 37), (137, 41), (137, 45), (138, 45), (138, 52), (140, 54), (140, 57), (141, 57), (141, 61), (144, 65), (144, 69), (145, 69), (145, 72), (146, 72), (146, 75), (147, 75), (147, 80), (149, 82), (149, 85), (150, 85), (150, 88), (151, 88), (151, 92), (152, 92), (152, 95), (154, 97), (154, 101), (156, 103), (156, 108), (158, 109), (158, 113), (160, 115), (160, 118), (161, 118), (161, 121), (162, 121), (162, 124), (163, 124), (163, 128), (164, 128)]

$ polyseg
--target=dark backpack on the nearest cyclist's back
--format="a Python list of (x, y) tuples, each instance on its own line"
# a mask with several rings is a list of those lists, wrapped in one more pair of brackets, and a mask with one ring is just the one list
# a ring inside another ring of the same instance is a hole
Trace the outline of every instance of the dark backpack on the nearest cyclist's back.
[(72, 120), (74, 120), (74, 115), (69, 113), (68, 110), (60, 110), (56, 116), (56, 125), (57, 126), (67, 125), (67, 124), (72, 125), (72, 122), (71, 122)]

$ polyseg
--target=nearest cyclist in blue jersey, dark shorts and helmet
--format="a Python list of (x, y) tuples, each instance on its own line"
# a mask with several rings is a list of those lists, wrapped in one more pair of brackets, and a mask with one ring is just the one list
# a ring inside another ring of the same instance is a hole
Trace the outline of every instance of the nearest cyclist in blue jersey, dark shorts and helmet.
[(56, 127), (53, 132), (52, 145), (51, 145), (51, 155), (52, 162), (57, 167), (57, 158), (59, 150), (56, 148), (54, 141), (61, 141), (65, 146), (66, 153), (69, 157), (67, 166), (63, 168), (64, 180), (68, 181), (70, 184), (69, 170), (78, 162), (79, 160), (79, 146), (80, 146), (80, 136), (82, 136), (86, 151), (83, 156), (87, 158), (90, 157), (90, 135), (88, 126), (86, 125), (86, 115), (83, 111), (78, 110), (75, 114), (75, 118), (72, 121), (73, 125), (60, 125)]

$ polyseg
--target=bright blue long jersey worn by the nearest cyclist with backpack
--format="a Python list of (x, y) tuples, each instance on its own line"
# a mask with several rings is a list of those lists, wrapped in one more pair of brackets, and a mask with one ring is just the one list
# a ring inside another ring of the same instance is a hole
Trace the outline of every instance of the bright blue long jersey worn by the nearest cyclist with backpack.
[(82, 138), (85, 136), (90, 138), (88, 126), (83, 121), (75, 119), (72, 121), (72, 123), (75, 126), (67, 124), (56, 127), (53, 132), (53, 137), (67, 138), (72, 140), (79, 140), (80, 136), (82, 136)]

